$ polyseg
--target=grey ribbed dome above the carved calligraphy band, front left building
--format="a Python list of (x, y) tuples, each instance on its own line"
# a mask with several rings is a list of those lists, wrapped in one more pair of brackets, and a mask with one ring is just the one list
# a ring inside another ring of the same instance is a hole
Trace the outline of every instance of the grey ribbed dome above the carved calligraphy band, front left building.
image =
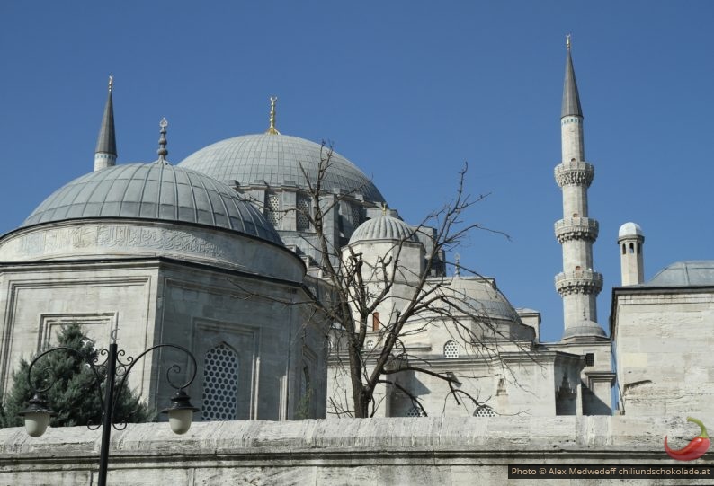
[(235, 190), (164, 163), (129, 163), (90, 172), (56, 190), (22, 226), (97, 217), (196, 223), (282, 244), (272, 225)]

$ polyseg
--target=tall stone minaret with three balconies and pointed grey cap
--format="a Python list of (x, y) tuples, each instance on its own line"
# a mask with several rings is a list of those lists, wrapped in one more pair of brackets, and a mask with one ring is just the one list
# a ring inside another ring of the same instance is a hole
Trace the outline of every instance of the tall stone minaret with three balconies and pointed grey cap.
[(593, 181), (593, 165), (585, 162), (583, 110), (577, 93), (576, 73), (567, 36), (566, 79), (560, 113), (562, 162), (555, 169), (563, 191), (563, 219), (556, 223), (556, 237), (563, 246), (563, 272), (556, 289), (563, 297), (565, 331), (562, 339), (605, 335), (597, 324), (595, 300), (602, 290), (602, 275), (593, 270), (593, 243), (598, 223), (588, 217), (587, 188)]

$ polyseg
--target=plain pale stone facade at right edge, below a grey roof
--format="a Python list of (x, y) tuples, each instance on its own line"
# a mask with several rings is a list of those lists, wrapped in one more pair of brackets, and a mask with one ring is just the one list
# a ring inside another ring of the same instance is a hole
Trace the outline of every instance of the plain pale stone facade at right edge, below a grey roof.
[(620, 413), (700, 417), (714, 400), (714, 285), (612, 289)]

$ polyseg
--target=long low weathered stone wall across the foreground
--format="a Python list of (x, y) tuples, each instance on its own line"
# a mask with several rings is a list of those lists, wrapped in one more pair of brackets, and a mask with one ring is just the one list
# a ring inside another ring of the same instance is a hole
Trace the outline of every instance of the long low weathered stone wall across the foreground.
[[(700, 417), (705, 423), (708, 417)], [(714, 423), (714, 422), (711, 422)], [(509, 480), (507, 464), (679, 463), (699, 432), (683, 418), (497, 417), (165, 423), (114, 431), (110, 484), (459, 485), (706, 484), (711, 480)], [(49, 429), (40, 438), (0, 429), (0, 485), (93, 485), (100, 431)]]

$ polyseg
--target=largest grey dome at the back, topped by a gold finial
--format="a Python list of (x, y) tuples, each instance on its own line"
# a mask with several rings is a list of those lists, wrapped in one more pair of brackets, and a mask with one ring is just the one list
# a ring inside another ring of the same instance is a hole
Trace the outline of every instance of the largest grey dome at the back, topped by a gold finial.
[[(265, 182), (273, 187), (298, 185), (305, 189), (308, 181), (300, 170), (300, 164), (308, 172), (310, 180), (316, 181), (317, 167), (326, 150), (299, 137), (245, 135), (201, 148), (179, 165), (219, 181), (238, 181), (240, 184)], [(368, 201), (384, 201), (370, 178), (342, 155), (333, 153), (331, 163), (323, 182), (325, 190), (361, 193)]]

